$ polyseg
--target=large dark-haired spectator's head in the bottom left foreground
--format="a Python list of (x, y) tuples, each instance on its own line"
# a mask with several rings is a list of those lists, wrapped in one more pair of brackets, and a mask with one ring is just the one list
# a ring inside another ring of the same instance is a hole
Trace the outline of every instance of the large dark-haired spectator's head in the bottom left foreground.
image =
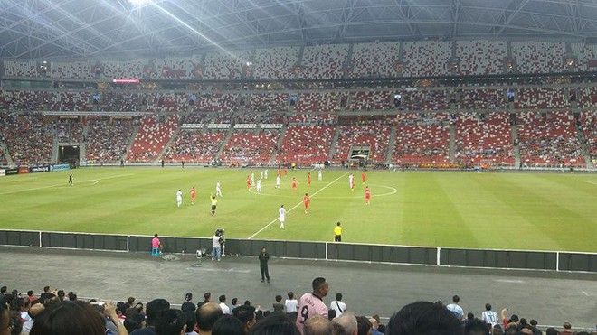
[[(128, 334), (122, 327), (123, 334)], [(60, 302), (48, 305), (33, 323), (30, 335), (105, 335), (105, 323), (87, 302)]]

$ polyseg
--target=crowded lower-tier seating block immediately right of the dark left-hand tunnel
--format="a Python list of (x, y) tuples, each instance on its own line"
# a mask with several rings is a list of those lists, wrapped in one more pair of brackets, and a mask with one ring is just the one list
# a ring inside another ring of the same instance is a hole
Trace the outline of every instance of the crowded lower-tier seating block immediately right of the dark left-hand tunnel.
[(89, 163), (118, 163), (133, 135), (131, 120), (91, 120), (85, 157)]

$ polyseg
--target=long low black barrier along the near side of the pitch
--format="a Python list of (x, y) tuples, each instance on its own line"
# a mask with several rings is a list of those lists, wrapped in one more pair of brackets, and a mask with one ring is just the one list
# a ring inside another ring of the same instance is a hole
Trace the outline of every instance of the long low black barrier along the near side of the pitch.
[[(0, 245), (104, 250), (151, 251), (151, 236), (70, 233), (0, 229)], [(212, 248), (211, 237), (160, 237), (163, 252), (183, 254)], [(463, 266), (597, 273), (597, 254), (567, 251), (496, 250), (442, 247), (408, 247), (282, 240), (226, 240), (226, 254), (259, 255), (267, 247), (271, 256), (327, 261), (353, 261), (410, 265)]]

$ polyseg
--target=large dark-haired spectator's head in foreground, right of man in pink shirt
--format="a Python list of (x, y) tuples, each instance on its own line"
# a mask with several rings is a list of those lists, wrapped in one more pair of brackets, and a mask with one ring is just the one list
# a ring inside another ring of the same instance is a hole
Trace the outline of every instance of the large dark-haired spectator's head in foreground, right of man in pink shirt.
[(412, 302), (393, 314), (384, 334), (460, 335), (462, 326), (440, 303)]

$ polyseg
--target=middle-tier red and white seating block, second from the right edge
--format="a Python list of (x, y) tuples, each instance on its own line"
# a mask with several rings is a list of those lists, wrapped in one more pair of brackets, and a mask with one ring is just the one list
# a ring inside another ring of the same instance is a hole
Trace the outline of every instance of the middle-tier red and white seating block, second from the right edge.
[(564, 88), (522, 88), (517, 90), (516, 109), (570, 108)]

